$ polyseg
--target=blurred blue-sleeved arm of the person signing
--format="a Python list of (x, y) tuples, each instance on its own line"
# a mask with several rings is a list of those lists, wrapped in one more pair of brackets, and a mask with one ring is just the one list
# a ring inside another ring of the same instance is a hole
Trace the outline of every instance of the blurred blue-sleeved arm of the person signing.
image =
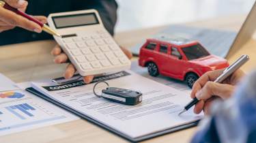
[(192, 142), (254, 142), (256, 140), (256, 72), (248, 76), (235, 94), (216, 101)]

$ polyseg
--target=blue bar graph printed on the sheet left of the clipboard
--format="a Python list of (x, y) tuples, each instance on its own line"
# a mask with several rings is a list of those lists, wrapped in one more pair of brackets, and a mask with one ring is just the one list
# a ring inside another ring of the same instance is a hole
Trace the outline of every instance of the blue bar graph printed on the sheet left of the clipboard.
[(5, 109), (22, 120), (25, 120), (26, 118), (23, 115), (16, 112), (16, 110), (20, 110), (27, 116), (34, 116), (33, 114), (31, 114), (31, 112), (29, 112), (29, 110), (35, 110), (35, 108), (33, 108), (32, 106), (29, 106), (29, 104), (18, 104), (18, 105), (6, 107)]

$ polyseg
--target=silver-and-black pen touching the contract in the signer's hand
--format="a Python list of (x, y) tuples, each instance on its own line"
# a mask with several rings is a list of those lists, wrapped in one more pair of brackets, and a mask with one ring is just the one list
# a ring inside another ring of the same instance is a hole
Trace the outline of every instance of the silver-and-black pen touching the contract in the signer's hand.
[[(236, 70), (238, 70), (242, 65), (244, 65), (244, 63), (246, 63), (249, 60), (248, 55), (242, 55), (239, 59), (237, 59), (232, 65), (229, 65), (229, 67), (227, 67), (224, 71), (223, 74), (221, 74), (221, 76), (218, 76), (218, 78), (216, 80), (214, 80), (214, 82), (217, 83), (221, 83), (223, 82), (223, 80), (225, 80), (227, 77), (229, 77), (231, 74), (233, 74), (233, 72), (236, 72)], [(187, 110), (189, 110), (192, 106), (195, 106), (195, 104), (197, 104), (197, 102), (199, 101), (199, 99), (197, 99), (197, 97), (195, 97), (192, 101), (190, 101), (185, 107), (184, 110), (182, 110), (182, 112), (180, 112), (178, 115), (186, 112)]]

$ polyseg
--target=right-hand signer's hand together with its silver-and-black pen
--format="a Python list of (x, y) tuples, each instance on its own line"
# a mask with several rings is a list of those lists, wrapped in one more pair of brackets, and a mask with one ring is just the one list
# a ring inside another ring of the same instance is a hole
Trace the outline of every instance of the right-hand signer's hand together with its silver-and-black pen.
[(214, 99), (229, 98), (233, 94), (236, 84), (244, 76), (244, 73), (239, 68), (248, 59), (247, 55), (243, 55), (226, 69), (207, 72), (201, 76), (193, 85), (191, 93), (193, 100), (184, 107), (180, 114), (186, 112), (186, 110), (189, 110), (194, 105), (194, 112), (196, 114), (199, 114), (202, 110), (204, 110), (205, 114), (208, 114), (208, 108)]

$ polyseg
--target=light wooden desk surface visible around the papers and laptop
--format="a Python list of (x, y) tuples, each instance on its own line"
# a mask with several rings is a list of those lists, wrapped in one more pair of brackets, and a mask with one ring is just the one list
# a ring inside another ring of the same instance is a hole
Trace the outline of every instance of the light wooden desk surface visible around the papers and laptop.
[[(232, 20), (230, 20), (232, 19)], [(234, 16), (233, 18), (218, 18), (199, 22), (192, 22), (186, 25), (197, 27), (211, 27), (218, 29), (238, 30), (244, 16)], [(117, 33), (115, 39), (117, 42), (127, 48), (142, 42), (143, 39), (157, 33), (165, 27), (154, 27), (151, 29), (140, 29)], [(53, 57), (50, 54), (51, 49), (55, 46), (51, 40), (41, 42), (29, 42), (24, 44), (14, 44), (0, 47), (0, 72), (8, 76), (15, 82), (25, 82), (38, 80), (40, 78), (53, 78), (62, 76), (66, 65), (55, 65)], [(250, 40), (240, 50), (233, 54), (228, 60), (234, 61), (241, 54), (251, 56), (249, 61), (242, 69), (249, 72), (256, 67), (256, 42)], [(196, 127), (169, 133), (145, 142), (189, 142), (195, 133)], [(20, 140), (22, 139), (22, 140)], [(72, 121), (59, 125), (42, 127), (21, 133), (1, 137), (1, 142), (128, 142), (113, 133), (106, 131), (85, 120)]]

